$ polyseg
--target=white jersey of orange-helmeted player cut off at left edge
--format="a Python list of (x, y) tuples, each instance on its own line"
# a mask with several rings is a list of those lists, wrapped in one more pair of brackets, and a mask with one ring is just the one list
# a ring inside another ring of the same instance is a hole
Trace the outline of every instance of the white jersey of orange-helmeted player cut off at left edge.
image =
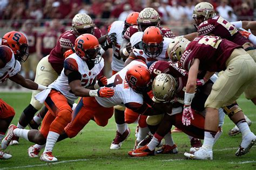
[(0, 83), (4, 83), (6, 79), (21, 71), (21, 64), (15, 60), (14, 52), (5, 45), (0, 46), (0, 59), (5, 63), (0, 69)]

